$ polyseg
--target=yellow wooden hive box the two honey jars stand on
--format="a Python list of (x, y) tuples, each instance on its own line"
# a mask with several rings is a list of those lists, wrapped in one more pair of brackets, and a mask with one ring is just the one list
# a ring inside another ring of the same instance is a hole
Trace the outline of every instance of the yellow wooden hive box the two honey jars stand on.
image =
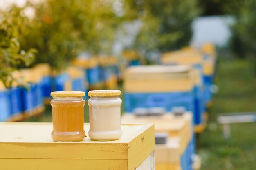
[[(153, 124), (121, 125), (116, 141), (54, 142), (52, 123), (0, 123), (0, 164), (8, 170), (153, 170)], [(88, 134), (89, 124), (85, 124)]]

